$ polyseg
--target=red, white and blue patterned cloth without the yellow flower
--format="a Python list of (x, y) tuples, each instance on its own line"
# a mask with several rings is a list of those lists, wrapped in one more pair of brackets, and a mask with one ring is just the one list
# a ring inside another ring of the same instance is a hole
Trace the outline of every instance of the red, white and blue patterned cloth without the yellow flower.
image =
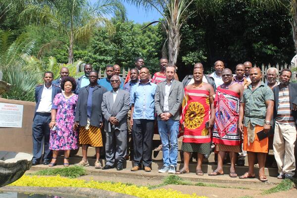
[(214, 100), (215, 120), (212, 142), (223, 145), (237, 146), (241, 137), (237, 130), (240, 96), (231, 90), (217, 88)]

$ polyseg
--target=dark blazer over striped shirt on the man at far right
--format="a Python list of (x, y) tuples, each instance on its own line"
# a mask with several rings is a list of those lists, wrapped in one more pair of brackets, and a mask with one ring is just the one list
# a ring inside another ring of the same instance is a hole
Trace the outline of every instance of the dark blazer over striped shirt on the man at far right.
[[(289, 83), (288, 86), (289, 86), (289, 97), (290, 97), (290, 109), (292, 111), (292, 115), (294, 117), (295, 123), (297, 124), (297, 111), (293, 110), (293, 104), (297, 104), (297, 83)], [(280, 85), (274, 87), (272, 91), (274, 94), (274, 108), (273, 108), (273, 125), (274, 125), (275, 119), (277, 116)]]

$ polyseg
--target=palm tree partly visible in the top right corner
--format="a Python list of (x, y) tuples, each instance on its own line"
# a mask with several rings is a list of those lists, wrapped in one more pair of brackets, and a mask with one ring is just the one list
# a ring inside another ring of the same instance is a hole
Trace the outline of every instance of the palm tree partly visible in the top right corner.
[(297, 52), (297, 0), (250, 0), (255, 6), (264, 9), (284, 9), (290, 16), (289, 21), (292, 26), (292, 36), (295, 51)]

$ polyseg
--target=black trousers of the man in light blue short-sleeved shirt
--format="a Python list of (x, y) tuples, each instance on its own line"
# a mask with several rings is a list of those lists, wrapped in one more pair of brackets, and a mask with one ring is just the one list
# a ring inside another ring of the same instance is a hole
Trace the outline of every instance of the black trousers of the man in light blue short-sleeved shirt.
[(134, 165), (150, 166), (154, 120), (133, 119)]

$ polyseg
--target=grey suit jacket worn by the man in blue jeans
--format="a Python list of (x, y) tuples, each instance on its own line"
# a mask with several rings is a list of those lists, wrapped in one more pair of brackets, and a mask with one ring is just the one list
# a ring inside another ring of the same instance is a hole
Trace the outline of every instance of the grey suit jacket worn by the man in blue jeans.
[[(155, 111), (157, 113), (157, 119), (161, 120), (160, 114), (164, 112), (163, 105), (164, 105), (164, 97), (165, 97), (165, 84), (166, 80), (159, 83), (156, 87), (156, 92), (154, 96), (154, 105)], [(172, 119), (179, 120), (180, 119), (180, 108), (184, 98), (184, 87), (183, 83), (173, 80), (172, 85), (169, 91), (168, 97), (168, 106), (169, 106), (169, 113), (171, 113)]]

